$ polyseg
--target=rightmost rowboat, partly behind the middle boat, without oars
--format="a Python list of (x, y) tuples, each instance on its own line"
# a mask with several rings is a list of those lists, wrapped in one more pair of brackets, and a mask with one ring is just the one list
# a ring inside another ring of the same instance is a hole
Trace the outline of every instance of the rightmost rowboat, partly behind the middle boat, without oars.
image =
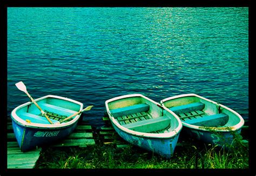
[(229, 146), (244, 125), (234, 110), (194, 93), (165, 98), (160, 104), (178, 115), (187, 134), (204, 143)]

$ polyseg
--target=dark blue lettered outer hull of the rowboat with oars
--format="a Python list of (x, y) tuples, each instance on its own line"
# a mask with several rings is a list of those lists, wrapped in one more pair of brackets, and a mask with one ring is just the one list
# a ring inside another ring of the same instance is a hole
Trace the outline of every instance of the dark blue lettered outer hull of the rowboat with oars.
[(75, 130), (77, 122), (64, 128), (43, 129), (21, 126), (12, 120), (12, 126), (21, 151), (26, 152), (36, 146), (52, 144), (53, 141), (69, 136)]

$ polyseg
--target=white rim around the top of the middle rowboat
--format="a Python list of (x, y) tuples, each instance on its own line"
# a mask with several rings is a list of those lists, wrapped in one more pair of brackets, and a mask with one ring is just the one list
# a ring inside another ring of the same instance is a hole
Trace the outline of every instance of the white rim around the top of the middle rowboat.
[[(111, 101), (115, 101), (115, 100), (119, 100), (119, 99), (124, 99), (124, 98), (129, 98), (129, 97), (142, 97), (142, 98), (145, 98), (146, 100), (149, 100), (151, 101), (151, 103), (154, 103), (156, 104), (157, 106), (159, 106), (159, 108), (163, 108), (164, 110), (170, 112), (174, 118), (176, 118), (178, 120), (178, 126), (170, 131), (170, 132), (167, 132), (167, 133), (144, 133), (144, 132), (137, 132), (137, 131), (133, 131), (133, 130), (129, 130), (128, 128), (126, 127), (123, 127), (122, 125), (120, 125), (116, 119), (114, 119), (114, 117), (112, 116), (112, 114), (110, 113), (110, 109), (109, 109), (109, 106), (108, 104), (111, 102)], [(114, 97), (114, 98), (111, 98), (109, 100), (106, 100), (105, 101), (105, 106), (106, 106), (106, 111), (107, 111), (107, 114), (109, 115), (109, 118), (111, 120), (111, 123), (116, 126), (119, 130), (125, 132), (125, 133), (128, 133), (128, 134), (131, 134), (133, 136), (137, 136), (137, 137), (145, 137), (145, 138), (174, 138), (176, 137), (180, 131), (181, 131), (181, 128), (182, 128), (182, 124), (181, 124), (181, 120), (179, 119), (179, 117), (172, 111), (170, 111), (169, 109), (167, 109), (166, 107), (164, 106), (161, 106), (159, 103), (157, 103), (156, 101), (150, 99), (150, 98), (147, 98), (145, 96), (143, 96), (143, 94), (139, 94), (139, 93), (136, 93), (136, 94), (126, 94), (124, 96), (119, 96), (119, 97)]]

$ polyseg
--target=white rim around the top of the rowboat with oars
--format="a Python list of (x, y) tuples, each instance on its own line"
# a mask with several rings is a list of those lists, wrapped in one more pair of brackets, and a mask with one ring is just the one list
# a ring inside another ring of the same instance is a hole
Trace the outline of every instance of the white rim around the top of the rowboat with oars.
[[(51, 95), (51, 94), (43, 96), (41, 98), (37, 98), (37, 99), (35, 99), (35, 101), (43, 100), (43, 99), (46, 99), (46, 98), (56, 98), (56, 99), (62, 99), (62, 100), (70, 101), (72, 103), (80, 105), (79, 111), (83, 110), (83, 106), (84, 106), (83, 103), (80, 103), (79, 101), (76, 101), (76, 100), (73, 100), (73, 99), (70, 99), (70, 98), (55, 96), (55, 95)], [(36, 128), (36, 129), (38, 129), (38, 128), (41, 128), (41, 129), (65, 128), (65, 127), (69, 127), (69, 126), (72, 126), (73, 124), (75, 124), (76, 121), (79, 119), (79, 117), (82, 114), (82, 113), (78, 114), (77, 116), (75, 116), (72, 120), (68, 121), (67, 123), (60, 123), (60, 124), (58, 124), (58, 123), (56, 123), (56, 124), (39, 124), (39, 123), (31, 123), (31, 122), (28, 123), (27, 121), (25, 121), (22, 118), (20, 118), (17, 115), (16, 111), (21, 109), (22, 107), (28, 106), (30, 104), (33, 104), (33, 102), (28, 101), (28, 102), (26, 102), (24, 104), (21, 104), (21, 105), (15, 107), (15, 109), (12, 110), (12, 112), (11, 112), (11, 119), (14, 120), (15, 123), (17, 123), (18, 125), (24, 126), (26, 128)]]

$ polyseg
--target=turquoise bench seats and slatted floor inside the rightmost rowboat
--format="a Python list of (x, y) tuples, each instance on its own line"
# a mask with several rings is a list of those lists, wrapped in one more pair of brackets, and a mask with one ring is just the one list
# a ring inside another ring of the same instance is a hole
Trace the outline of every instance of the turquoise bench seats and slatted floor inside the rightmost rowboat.
[(227, 123), (227, 114), (217, 113), (208, 115), (204, 111), (204, 108), (204, 103), (196, 102), (181, 106), (170, 107), (169, 109), (176, 113), (181, 121), (184, 121), (184, 123), (191, 125), (220, 127), (224, 126)]

